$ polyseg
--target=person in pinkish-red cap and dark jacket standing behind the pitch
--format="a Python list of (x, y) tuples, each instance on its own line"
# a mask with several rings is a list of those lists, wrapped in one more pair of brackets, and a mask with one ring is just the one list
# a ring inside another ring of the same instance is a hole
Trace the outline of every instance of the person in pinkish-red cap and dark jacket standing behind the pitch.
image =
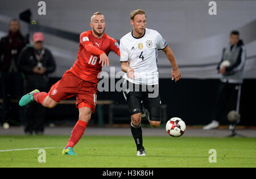
[[(24, 93), (34, 89), (48, 90), (48, 74), (54, 72), (55, 61), (51, 52), (43, 47), (44, 35), (36, 32), (33, 35), (33, 44), (27, 45), (19, 56), (19, 68), (24, 73)], [(43, 134), (46, 109), (38, 104), (31, 103), (25, 109), (25, 133)]]

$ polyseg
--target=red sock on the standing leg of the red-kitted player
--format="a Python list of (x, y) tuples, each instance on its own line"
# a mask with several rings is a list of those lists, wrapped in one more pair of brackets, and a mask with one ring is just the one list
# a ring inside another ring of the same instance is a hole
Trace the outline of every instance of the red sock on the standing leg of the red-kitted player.
[(78, 141), (81, 139), (82, 135), (84, 134), (87, 124), (88, 123), (80, 119), (77, 121), (75, 127), (72, 130), (71, 137), (68, 140), (68, 144), (65, 147), (65, 149), (68, 147), (74, 147), (78, 143)]

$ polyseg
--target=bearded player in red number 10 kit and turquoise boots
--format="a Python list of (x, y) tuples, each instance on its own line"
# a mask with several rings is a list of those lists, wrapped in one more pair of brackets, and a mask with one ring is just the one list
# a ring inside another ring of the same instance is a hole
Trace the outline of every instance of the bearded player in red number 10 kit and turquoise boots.
[(109, 66), (109, 52), (120, 56), (119, 45), (116, 40), (105, 34), (105, 18), (100, 12), (91, 18), (92, 30), (80, 34), (79, 52), (77, 60), (71, 69), (67, 70), (60, 81), (51, 87), (48, 93), (39, 90), (24, 95), (20, 106), (32, 101), (44, 107), (53, 108), (62, 99), (76, 95), (76, 107), (79, 109), (79, 120), (72, 130), (71, 138), (63, 149), (63, 155), (76, 155), (74, 145), (81, 139), (85, 128), (94, 113), (97, 101), (98, 73), (102, 66)]

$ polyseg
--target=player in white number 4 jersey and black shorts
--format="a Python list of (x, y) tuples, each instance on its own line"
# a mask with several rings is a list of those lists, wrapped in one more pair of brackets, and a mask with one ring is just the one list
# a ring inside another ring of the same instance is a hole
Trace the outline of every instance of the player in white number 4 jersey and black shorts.
[(158, 94), (158, 49), (162, 49), (172, 65), (172, 80), (181, 78), (174, 54), (166, 40), (155, 30), (146, 28), (146, 14), (135, 10), (130, 14), (133, 31), (120, 40), (120, 61), (123, 95), (131, 115), (131, 133), (137, 145), (137, 156), (144, 156), (141, 117), (146, 115), (152, 127), (161, 123), (160, 96)]

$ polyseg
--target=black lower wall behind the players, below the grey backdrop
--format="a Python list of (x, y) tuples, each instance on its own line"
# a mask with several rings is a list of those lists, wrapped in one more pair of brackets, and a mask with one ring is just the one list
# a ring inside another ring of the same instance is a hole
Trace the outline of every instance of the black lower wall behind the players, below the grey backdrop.
[[(57, 78), (52, 78), (52, 82)], [(160, 97), (162, 104), (167, 105), (168, 118), (179, 116), (188, 125), (203, 125), (209, 123), (212, 118), (212, 110), (217, 96), (219, 80), (195, 80), (181, 79), (173, 82), (169, 79), (160, 79)], [(241, 125), (256, 126), (255, 101), (256, 101), (256, 80), (245, 80), (241, 90)], [(73, 98), (75, 99), (75, 98)], [(125, 99), (121, 92), (99, 92), (98, 100), (113, 100), (115, 103), (124, 104)], [(226, 113), (221, 118), (221, 124), (228, 124)], [(108, 123), (108, 106), (104, 107), (104, 120)], [(115, 110), (114, 124), (129, 123), (130, 117), (128, 109)], [(97, 124), (97, 114), (93, 114), (91, 123)], [(57, 105), (55, 109), (48, 110), (48, 122), (55, 121), (72, 122), (77, 120), (78, 110), (75, 105)], [(144, 123), (147, 123), (145, 121)]]

